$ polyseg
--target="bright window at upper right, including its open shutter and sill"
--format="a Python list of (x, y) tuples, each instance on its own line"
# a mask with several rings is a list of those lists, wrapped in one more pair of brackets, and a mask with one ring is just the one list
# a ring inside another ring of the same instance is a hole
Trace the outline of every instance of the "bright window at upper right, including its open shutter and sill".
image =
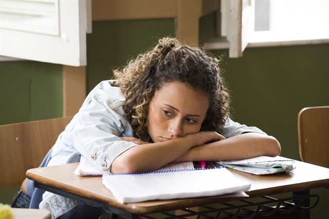
[(229, 57), (245, 47), (329, 43), (329, 0), (222, 0), (217, 29), (221, 36), (203, 46), (229, 49)]

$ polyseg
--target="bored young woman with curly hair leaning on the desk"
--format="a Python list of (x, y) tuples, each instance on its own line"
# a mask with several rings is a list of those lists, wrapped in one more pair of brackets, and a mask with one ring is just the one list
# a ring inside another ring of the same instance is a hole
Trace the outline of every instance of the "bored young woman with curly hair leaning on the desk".
[[(116, 80), (89, 93), (42, 166), (79, 162), (82, 154), (103, 170), (141, 172), (182, 161), (279, 155), (274, 137), (230, 120), (219, 62), (203, 48), (160, 39), (115, 70)], [(53, 218), (77, 216), (81, 209), (100, 214), (49, 192), (41, 198), (30, 181), (27, 191), (30, 208), (48, 209)]]

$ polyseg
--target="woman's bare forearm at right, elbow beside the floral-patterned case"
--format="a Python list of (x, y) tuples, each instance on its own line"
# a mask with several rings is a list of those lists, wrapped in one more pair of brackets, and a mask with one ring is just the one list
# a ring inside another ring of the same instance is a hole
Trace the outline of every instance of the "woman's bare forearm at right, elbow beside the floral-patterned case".
[(261, 133), (239, 134), (189, 149), (173, 163), (182, 161), (228, 161), (241, 160), (255, 156), (278, 156), (280, 143), (276, 138)]

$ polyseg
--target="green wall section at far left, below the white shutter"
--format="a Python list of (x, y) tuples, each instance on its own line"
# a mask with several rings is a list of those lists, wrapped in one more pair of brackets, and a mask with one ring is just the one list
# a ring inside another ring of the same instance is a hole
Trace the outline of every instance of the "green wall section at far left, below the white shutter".
[(62, 65), (0, 62), (0, 125), (63, 116)]

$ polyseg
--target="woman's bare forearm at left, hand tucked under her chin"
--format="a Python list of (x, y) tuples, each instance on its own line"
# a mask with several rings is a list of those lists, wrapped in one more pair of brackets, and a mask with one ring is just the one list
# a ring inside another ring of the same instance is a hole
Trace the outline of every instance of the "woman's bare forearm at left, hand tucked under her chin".
[(207, 142), (217, 142), (224, 137), (216, 132), (198, 132), (169, 141), (143, 144), (137, 138), (122, 138), (140, 144), (117, 156), (111, 165), (111, 172), (145, 172), (153, 171), (183, 156), (192, 147)]

